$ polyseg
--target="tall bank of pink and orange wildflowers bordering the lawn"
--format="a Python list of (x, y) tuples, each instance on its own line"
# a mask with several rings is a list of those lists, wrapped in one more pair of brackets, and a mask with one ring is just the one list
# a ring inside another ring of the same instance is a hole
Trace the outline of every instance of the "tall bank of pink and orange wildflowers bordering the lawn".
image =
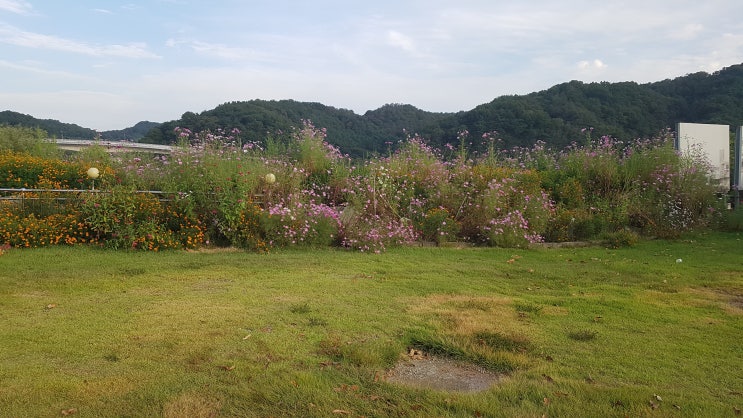
[[(561, 150), (501, 149), (496, 132), (463, 131), (442, 149), (408, 135), (365, 160), (344, 155), (309, 121), (260, 142), (238, 130), (176, 128), (177, 147), (156, 156), (96, 146), (40, 155), (32, 138), (33, 146), (0, 150), (0, 246), (618, 246), (726, 225), (727, 200), (708, 165), (677, 153), (672, 132), (628, 142), (591, 133)], [(468, 149), (473, 141), (484, 151)], [(86, 175), (90, 167), (98, 178)]]

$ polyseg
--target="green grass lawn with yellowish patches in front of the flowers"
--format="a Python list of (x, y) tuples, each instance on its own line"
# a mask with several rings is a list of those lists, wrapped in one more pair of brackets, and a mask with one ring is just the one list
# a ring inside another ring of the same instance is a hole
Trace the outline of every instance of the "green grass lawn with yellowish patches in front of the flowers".
[[(0, 256), (0, 416), (734, 416), (742, 238), (14, 249)], [(507, 377), (477, 394), (387, 383), (410, 348)]]

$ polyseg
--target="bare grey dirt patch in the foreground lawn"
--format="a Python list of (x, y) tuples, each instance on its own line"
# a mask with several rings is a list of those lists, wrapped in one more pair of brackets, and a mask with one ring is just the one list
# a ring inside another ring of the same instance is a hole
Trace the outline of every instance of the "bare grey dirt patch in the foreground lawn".
[(386, 375), (390, 383), (448, 392), (481, 392), (501, 379), (503, 375), (474, 364), (420, 352), (409, 355)]

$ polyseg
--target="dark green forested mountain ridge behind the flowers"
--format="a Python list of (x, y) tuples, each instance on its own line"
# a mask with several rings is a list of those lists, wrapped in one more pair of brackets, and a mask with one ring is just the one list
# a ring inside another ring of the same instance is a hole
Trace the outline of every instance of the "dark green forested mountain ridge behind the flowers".
[[(294, 100), (228, 102), (201, 113), (185, 112), (178, 120), (140, 122), (103, 139), (171, 144), (174, 128), (192, 131), (237, 128), (244, 140), (262, 141), (311, 120), (327, 129), (327, 140), (343, 152), (364, 156), (386, 152), (406, 135), (417, 133), (434, 146), (458, 144), (469, 132), (471, 147), (482, 134), (497, 131), (503, 147), (544, 141), (562, 148), (585, 138), (583, 128), (623, 140), (647, 138), (678, 122), (743, 125), (743, 64), (712, 74), (698, 72), (654, 83), (583, 83), (570, 81), (527, 95), (501, 96), (469, 111), (434, 113), (408, 104), (387, 104), (358, 115), (321, 103)], [(93, 138), (95, 131), (53, 120), (0, 112), (0, 124), (39, 127), (49, 135)]]

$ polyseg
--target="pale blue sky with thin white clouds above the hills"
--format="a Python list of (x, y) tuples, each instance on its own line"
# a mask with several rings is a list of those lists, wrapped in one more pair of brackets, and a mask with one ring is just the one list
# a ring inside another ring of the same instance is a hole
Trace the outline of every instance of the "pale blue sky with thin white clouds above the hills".
[(456, 112), (741, 63), (740, 0), (0, 0), (0, 110), (100, 131), (253, 99)]

